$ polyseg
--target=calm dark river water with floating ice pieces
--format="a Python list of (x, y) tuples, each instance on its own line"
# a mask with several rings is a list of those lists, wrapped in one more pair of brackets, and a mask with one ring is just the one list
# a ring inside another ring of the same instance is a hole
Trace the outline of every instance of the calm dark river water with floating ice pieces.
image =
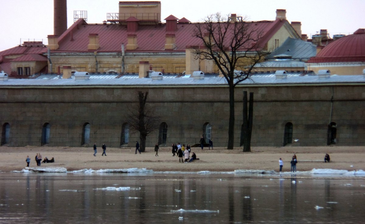
[(0, 173), (0, 223), (364, 223), (364, 177)]

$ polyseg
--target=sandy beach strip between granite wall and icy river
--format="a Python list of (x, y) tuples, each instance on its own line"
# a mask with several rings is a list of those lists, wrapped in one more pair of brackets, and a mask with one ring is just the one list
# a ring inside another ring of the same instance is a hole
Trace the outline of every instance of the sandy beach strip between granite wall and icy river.
[[(42, 163), (41, 167), (63, 167), (68, 171), (81, 169), (126, 169), (146, 168), (154, 171), (234, 171), (238, 169), (279, 169), (279, 158), (284, 161), (283, 172), (290, 171), (290, 160), (297, 156), (297, 171), (316, 169), (365, 170), (365, 150), (362, 146), (321, 146), (321, 147), (253, 147), (250, 153), (242, 148), (227, 150), (224, 147), (208, 150), (192, 148), (198, 161), (181, 163), (172, 156), (170, 147), (161, 147), (158, 157), (154, 148), (135, 154), (135, 148), (107, 148), (107, 156), (101, 156), (103, 150), (98, 146), (93, 156), (93, 148), (84, 147), (7, 147), (1, 146), (0, 171), (22, 170), (26, 166), (26, 157), (31, 158), (30, 167), (37, 167), (34, 160), (37, 153), (42, 158), (54, 157), (54, 163)], [(331, 162), (324, 163), (328, 153)]]

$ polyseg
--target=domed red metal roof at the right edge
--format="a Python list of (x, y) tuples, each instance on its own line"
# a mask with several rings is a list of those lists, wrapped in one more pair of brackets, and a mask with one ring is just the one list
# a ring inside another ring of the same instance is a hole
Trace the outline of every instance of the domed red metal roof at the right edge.
[(365, 29), (335, 40), (308, 60), (308, 63), (323, 62), (365, 62)]

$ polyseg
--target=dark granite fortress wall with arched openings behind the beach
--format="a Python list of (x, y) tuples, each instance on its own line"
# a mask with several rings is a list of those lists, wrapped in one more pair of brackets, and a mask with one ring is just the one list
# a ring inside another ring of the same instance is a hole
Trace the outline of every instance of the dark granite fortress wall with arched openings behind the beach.
[[(252, 146), (283, 146), (284, 127), (293, 124), (293, 146), (327, 144), (330, 122), (337, 125), (338, 145), (365, 145), (365, 95), (362, 85), (271, 85), (235, 88), (235, 145), (240, 146), (243, 91), (254, 93)], [(9, 146), (41, 145), (42, 127), (50, 124), (48, 146), (81, 146), (82, 129), (90, 124), (90, 141), (120, 146), (137, 92), (149, 92), (161, 122), (168, 125), (166, 146), (194, 145), (211, 124), (215, 146), (227, 146), (228, 90), (222, 86), (63, 86), (1, 87), (0, 125), (10, 125)], [(4, 129), (4, 127), (3, 127)], [(4, 131), (4, 130), (3, 130)], [(128, 146), (138, 133), (130, 131)], [(159, 130), (147, 137), (158, 142)]]

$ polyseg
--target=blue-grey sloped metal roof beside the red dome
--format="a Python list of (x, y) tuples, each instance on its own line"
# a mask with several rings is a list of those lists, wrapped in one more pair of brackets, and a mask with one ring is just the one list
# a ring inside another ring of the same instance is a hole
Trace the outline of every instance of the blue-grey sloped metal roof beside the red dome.
[(266, 59), (274, 59), (277, 55), (291, 55), (292, 59), (308, 60), (316, 55), (316, 45), (303, 40), (287, 38), (280, 47), (269, 54)]

